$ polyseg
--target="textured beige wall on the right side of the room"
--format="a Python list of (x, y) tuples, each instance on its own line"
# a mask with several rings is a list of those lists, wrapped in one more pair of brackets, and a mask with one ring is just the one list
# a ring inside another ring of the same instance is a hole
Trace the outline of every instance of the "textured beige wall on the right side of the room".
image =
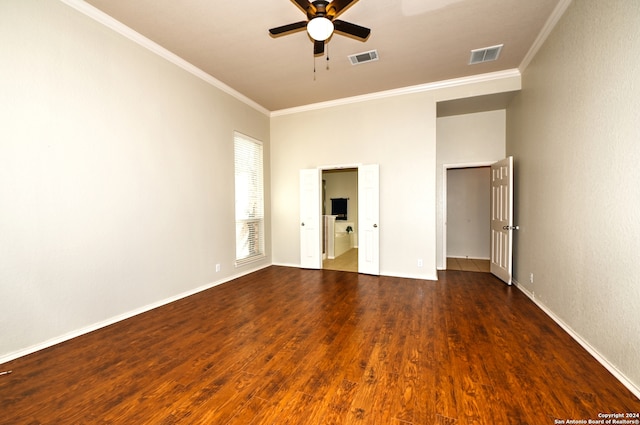
[(507, 110), (515, 280), (636, 389), (639, 22), (636, 0), (573, 2)]

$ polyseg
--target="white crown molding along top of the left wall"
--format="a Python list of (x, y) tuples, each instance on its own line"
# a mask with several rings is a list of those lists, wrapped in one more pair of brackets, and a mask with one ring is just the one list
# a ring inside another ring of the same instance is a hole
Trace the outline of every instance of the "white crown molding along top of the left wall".
[(258, 112), (261, 112), (265, 115), (269, 115), (269, 110), (263, 107), (262, 105), (256, 103), (255, 101), (249, 99), (247, 96), (242, 93), (236, 91), (235, 89), (229, 87), (222, 81), (212, 77), (207, 74), (200, 68), (192, 65), (186, 60), (182, 59), (178, 55), (170, 52), (159, 44), (149, 40), (142, 34), (132, 30), (128, 26), (124, 25), (122, 22), (112, 18), (101, 10), (91, 6), (83, 0), (59, 0), (60, 2), (66, 4), (67, 6), (77, 10), (80, 13), (88, 16), (89, 18), (103, 24), (104, 26), (110, 28), (111, 30), (117, 32), (118, 34), (128, 38), (129, 40), (139, 44), (140, 46), (150, 50), (151, 52), (157, 54), (158, 56), (166, 59), (167, 61), (177, 65), (183, 70), (193, 74), (194, 76), (200, 78), (206, 83), (212, 85), (213, 87), (220, 89), (221, 91), (227, 93), (228, 95), (233, 96), (237, 100), (245, 103), (246, 105), (252, 107)]

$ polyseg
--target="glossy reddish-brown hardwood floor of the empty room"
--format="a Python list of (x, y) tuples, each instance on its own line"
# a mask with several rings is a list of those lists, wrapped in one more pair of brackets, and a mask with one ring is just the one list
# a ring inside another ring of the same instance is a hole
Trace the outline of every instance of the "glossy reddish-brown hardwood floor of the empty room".
[(0, 366), (2, 424), (554, 424), (640, 401), (516, 288), (269, 267)]

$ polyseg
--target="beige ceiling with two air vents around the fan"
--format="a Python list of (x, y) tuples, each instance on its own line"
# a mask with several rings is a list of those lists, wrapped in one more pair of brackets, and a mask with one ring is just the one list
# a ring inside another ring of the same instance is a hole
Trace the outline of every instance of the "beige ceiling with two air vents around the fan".
[[(366, 42), (334, 34), (313, 56), (292, 0), (86, 0), (269, 111), (518, 68), (560, 0), (359, 0), (340, 19), (371, 29)], [(504, 44), (497, 61), (472, 49)], [(376, 49), (380, 59), (351, 65)], [(314, 75), (314, 62), (316, 72)]]

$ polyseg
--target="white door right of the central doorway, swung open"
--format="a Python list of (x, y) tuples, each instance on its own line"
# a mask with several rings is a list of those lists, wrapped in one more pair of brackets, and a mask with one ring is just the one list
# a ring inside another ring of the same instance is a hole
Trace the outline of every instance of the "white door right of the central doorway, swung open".
[(380, 171), (358, 167), (358, 272), (380, 274)]

